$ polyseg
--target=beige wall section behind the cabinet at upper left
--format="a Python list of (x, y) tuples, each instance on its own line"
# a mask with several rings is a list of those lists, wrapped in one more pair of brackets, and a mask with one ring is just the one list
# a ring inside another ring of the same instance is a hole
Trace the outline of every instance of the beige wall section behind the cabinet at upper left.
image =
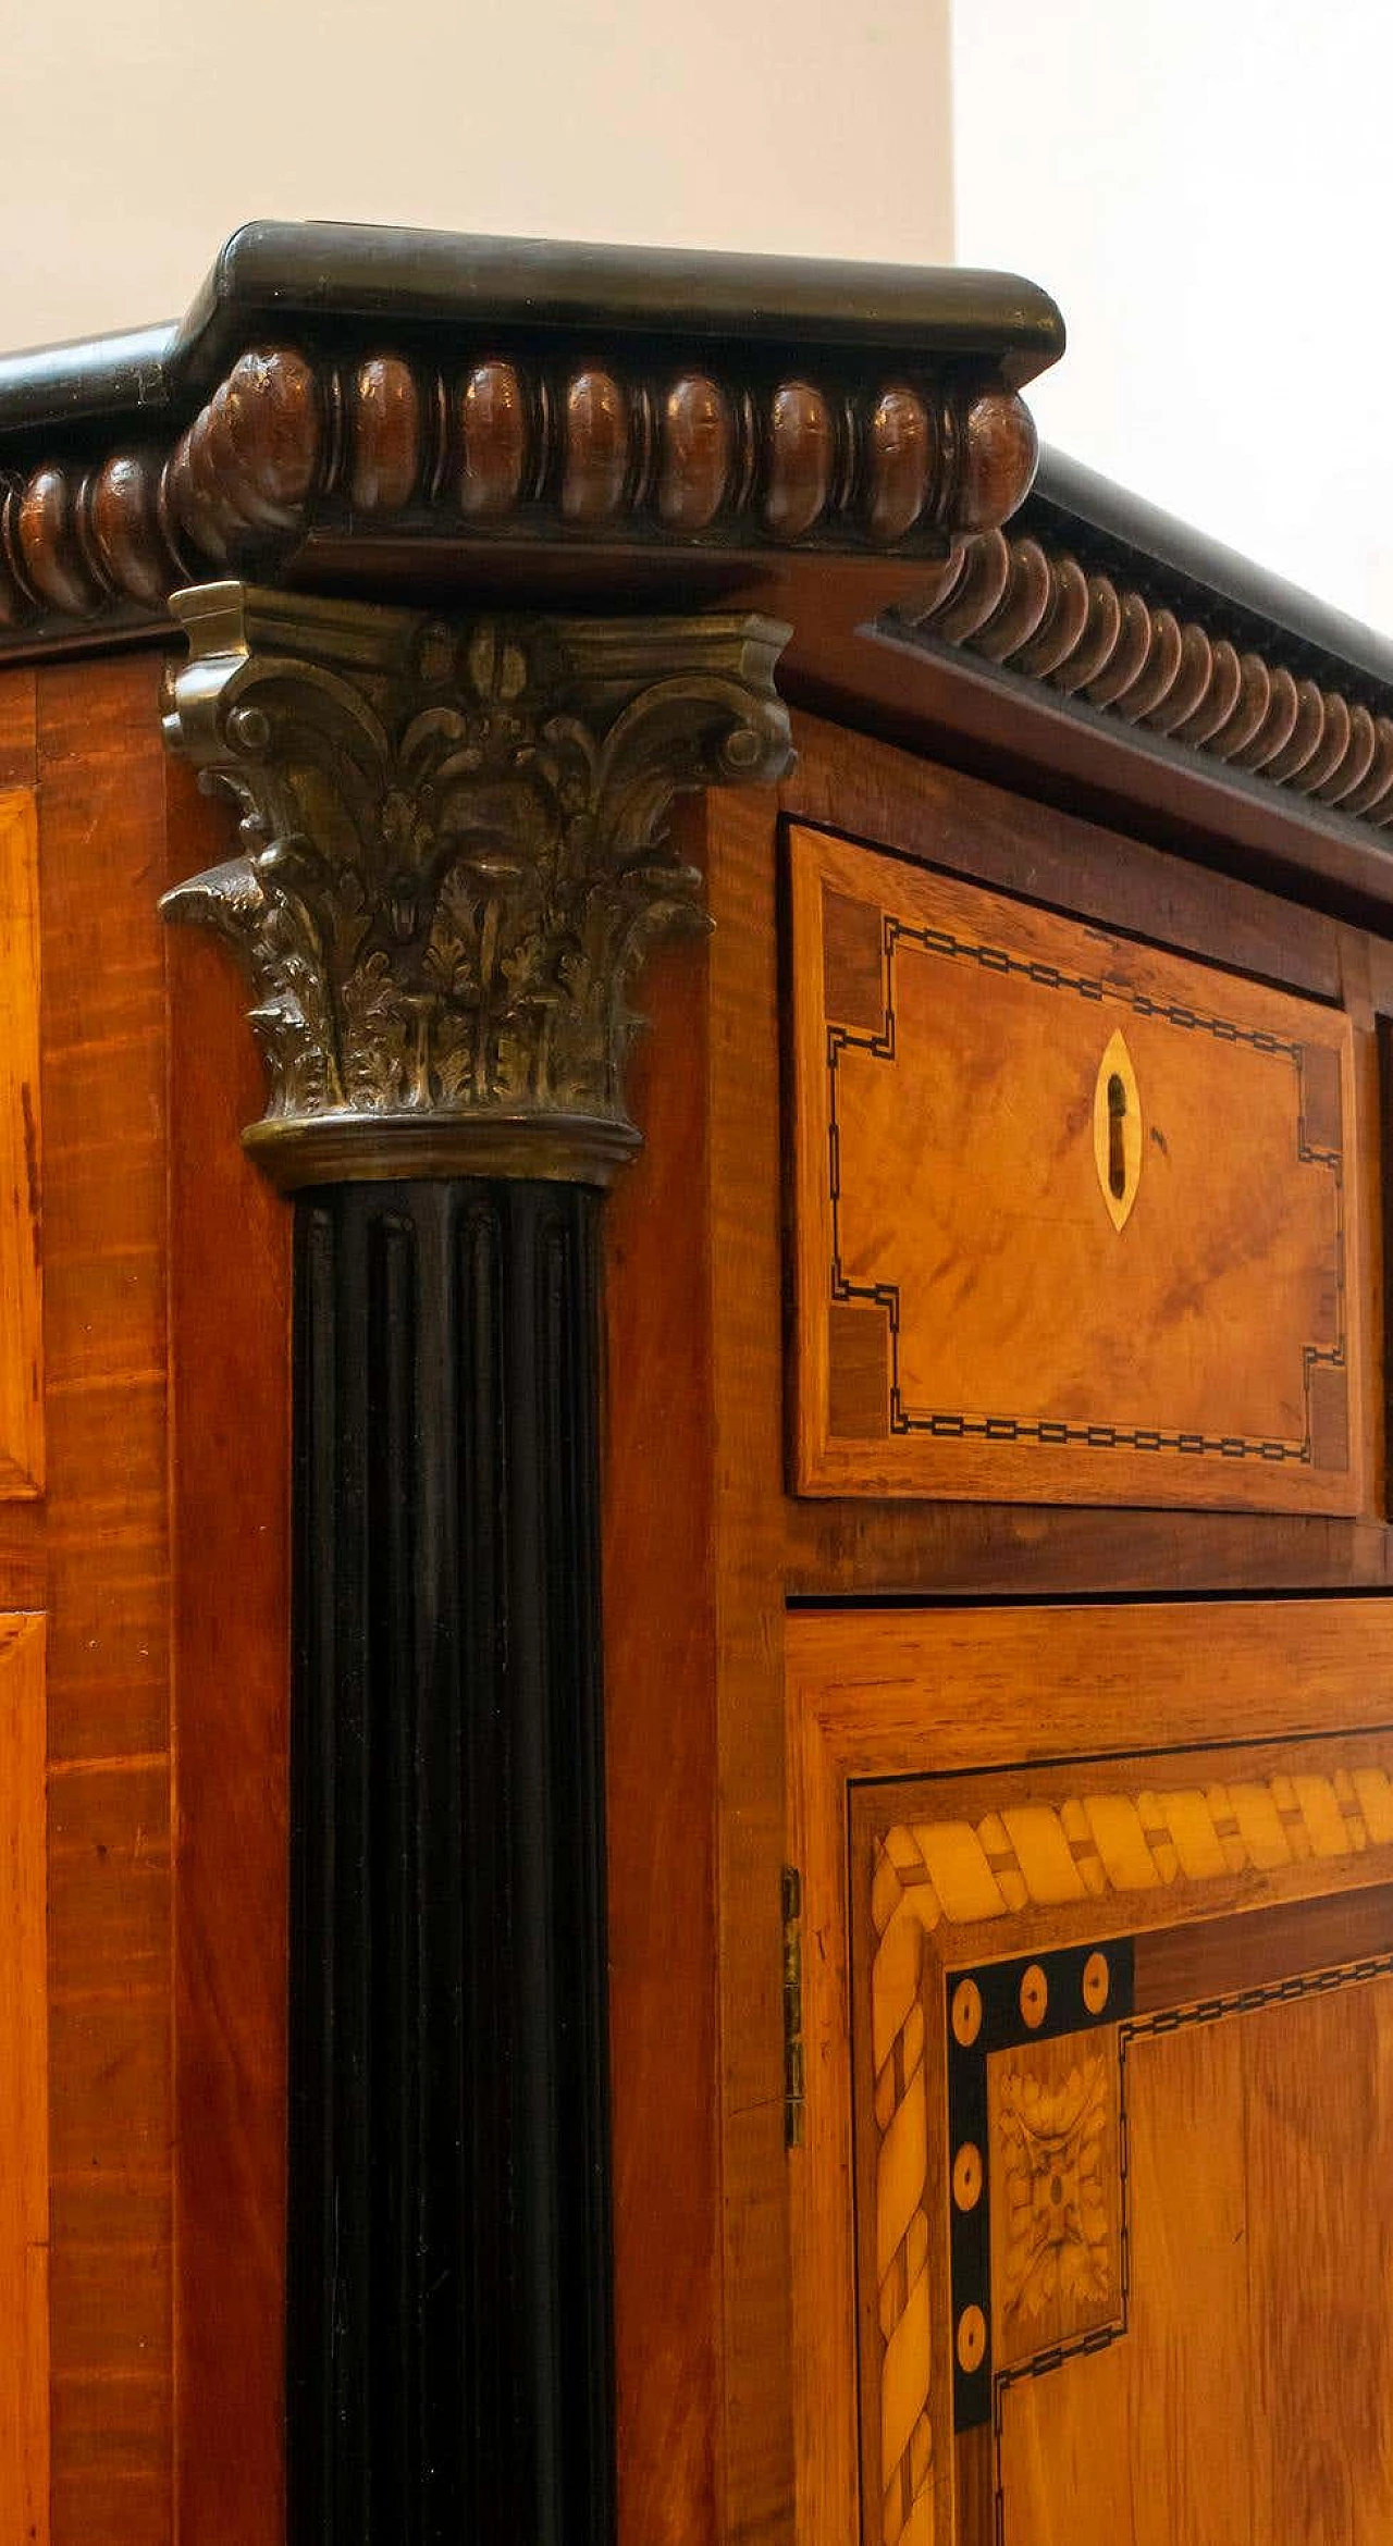
[(176, 316), (239, 222), (952, 255), (947, 0), (46, 0), (0, 346)]

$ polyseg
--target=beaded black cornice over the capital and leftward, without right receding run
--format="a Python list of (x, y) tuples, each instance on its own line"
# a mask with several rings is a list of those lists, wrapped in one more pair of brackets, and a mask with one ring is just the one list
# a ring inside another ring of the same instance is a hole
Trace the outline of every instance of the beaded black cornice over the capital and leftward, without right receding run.
[(1059, 349), (1008, 275), (257, 224), (181, 326), (0, 364), (0, 647), (229, 568), (479, 591), (507, 550), (509, 598), (596, 603), (642, 560), (672, 603), (937, 560), (1021, 502)]

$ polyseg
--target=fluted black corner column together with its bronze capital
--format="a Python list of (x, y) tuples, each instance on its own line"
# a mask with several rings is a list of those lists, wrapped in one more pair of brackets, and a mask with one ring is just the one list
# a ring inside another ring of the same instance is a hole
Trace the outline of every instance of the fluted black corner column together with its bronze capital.
[(290, 2546), (609, 2546), (601, 1202), (784, 629), (173, 611), (295, 1194)]

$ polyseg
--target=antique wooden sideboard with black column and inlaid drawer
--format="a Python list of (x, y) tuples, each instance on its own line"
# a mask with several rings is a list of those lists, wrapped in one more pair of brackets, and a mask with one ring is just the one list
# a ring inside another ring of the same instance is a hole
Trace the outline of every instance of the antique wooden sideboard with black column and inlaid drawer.
[(3, 2546), (1393, 2536), (1393, 647), (1059, 351), (0, 364)]

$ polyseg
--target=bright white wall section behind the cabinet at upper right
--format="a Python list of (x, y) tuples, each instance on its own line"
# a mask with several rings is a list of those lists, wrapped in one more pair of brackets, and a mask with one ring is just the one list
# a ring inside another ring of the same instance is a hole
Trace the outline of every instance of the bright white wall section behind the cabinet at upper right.
[(1388, 0), (955, 0), (958, 255), (1047, 440), (1393, 631)]

